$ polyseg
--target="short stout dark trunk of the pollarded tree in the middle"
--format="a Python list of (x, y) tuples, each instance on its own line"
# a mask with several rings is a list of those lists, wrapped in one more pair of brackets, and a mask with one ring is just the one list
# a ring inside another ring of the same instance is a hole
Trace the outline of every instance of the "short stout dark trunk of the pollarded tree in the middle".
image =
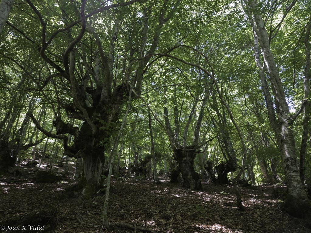
[(175, 151), (175, 159), (183, 176), (183, 186), (191, 190), (202, 190), (201, 177), (193, 168), (193, 160), (196, 153), (193, 147), (178, 148)]

